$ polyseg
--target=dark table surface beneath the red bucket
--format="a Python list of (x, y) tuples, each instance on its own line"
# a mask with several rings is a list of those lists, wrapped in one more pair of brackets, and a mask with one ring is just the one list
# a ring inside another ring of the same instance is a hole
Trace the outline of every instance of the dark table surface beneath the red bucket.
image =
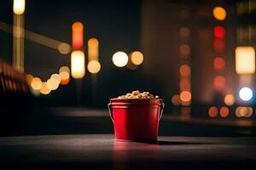
[(0, 160), (6, 169), (243, 169), (256, 165), (256, 138), (160, 136), (144, 144), (113, 134), (1, 137)]

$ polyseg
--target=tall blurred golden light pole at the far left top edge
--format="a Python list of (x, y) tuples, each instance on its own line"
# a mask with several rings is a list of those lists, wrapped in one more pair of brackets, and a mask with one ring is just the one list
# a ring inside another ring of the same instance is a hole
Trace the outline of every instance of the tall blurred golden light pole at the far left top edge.
[(25, 0), (14, 0), (13, 66), (24, 72), (24, 13)]

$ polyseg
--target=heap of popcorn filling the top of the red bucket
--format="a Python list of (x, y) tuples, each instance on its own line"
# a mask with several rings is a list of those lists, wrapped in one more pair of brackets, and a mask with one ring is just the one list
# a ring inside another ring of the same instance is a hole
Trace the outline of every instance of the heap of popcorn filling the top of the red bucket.
[(120, 95), (117, 99), (158, 99), (158, 95), (150, 94), (149, 92), (140, 93), (140, 91), (135, 90), (131, 93), (127, 93), (125, 95)]

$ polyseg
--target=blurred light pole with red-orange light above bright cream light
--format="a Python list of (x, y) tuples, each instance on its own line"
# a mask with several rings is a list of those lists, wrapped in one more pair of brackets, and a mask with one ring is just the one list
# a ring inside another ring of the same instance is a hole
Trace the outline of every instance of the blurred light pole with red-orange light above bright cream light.
[(71, 76), (76, 79), (78, 105), (82, 102), (82, 78), (85, 75), (84, 26), (81, 22), (72, 25)]

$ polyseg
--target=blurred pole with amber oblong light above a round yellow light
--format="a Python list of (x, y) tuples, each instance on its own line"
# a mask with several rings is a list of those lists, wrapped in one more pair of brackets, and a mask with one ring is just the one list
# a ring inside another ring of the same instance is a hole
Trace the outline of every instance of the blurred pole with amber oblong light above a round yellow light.
[(91, 75), (92, 83), (92, 103), (96, 105), (97, 73), (101, 70), (99, 62), (99, 41), (92, 37), (88, 41), (88, 71)]

